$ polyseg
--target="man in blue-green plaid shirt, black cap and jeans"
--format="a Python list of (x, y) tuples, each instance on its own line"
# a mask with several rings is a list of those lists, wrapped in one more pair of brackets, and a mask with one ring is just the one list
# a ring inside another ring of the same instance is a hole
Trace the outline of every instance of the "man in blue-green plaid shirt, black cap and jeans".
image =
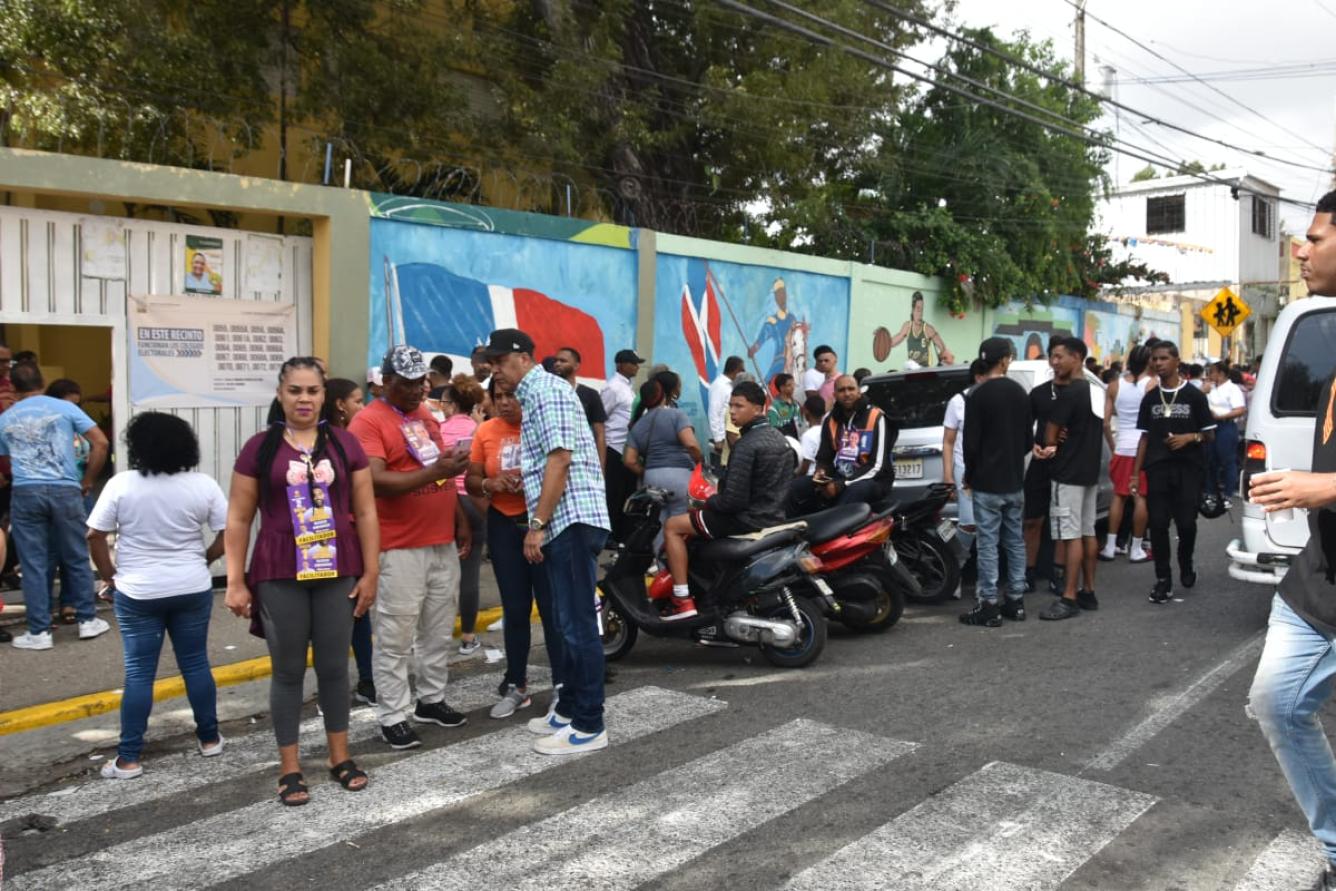
[(529, 721), (529, 729), (542, 735), (533, 748), (541, 755), (607, 748), (595, 561), (611, 524), (593, 434), (570, 385), (533, 361), (528, 334), (493, 331), (488, 359), (497, 383), (513, 387), (524, 409), (520, 470), (529, 510), (524, 556), (546, 568), (564, 651), (564, 681), (552, 708)]

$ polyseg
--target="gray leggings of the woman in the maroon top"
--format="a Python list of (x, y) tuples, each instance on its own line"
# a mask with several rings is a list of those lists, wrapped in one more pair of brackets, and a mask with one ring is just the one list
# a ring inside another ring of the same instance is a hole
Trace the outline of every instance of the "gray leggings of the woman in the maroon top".
[(321, 581), (262, 581), (261, 618), (274, 676), (269, 684), (269, 711), (279, 747), (297, 745), (302, 721), (302, 685), (306, 680), (306, 644), (315, 655), (315, 681), (325, 732), (347, 731), (351, 707), (347, 685), (347, 647), (353, 635), (353, 601), (347, 598), (357, 578), (341, 576)]

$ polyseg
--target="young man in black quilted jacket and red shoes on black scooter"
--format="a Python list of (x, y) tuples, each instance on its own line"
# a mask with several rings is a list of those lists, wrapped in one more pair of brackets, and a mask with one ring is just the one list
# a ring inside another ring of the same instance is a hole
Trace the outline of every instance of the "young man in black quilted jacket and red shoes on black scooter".
[[(850, 378), (852, 379), (852, 378)], [(728, 414), (741, 430), (728, 470), (700, 510), (664, 525), (664, 552), (672, 573), (672, 613), (664, 621), (691, 618), (696, 602), (687, 584), (687, 541), (743, 536), (784, 522), (784, 493), (794, 477), (794, 450), (784, 434), (766, 421), (766, 391), (747, 381), (733, 387)]]

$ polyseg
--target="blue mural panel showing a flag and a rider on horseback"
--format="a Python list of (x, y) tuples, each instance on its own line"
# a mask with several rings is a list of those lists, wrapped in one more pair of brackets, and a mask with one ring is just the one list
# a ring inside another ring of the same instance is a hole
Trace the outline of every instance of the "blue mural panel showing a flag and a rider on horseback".
[(683, 378), (681, 407), (704, 429), (709, 382), (729, 355), (767, 385), (800, 375), (820, 345), (848, 342), (850, 281), (774, 266), (659, 254), (653, 362)]

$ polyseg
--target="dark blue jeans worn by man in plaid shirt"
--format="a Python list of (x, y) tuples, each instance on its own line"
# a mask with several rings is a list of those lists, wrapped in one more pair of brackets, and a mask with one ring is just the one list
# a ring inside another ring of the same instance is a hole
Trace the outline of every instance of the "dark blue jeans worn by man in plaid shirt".
[[(577, 522), (542, 546), (552, 585), (552, 612), (561, 637), (561, 700), (557, 711), (581, 733), (603, 732), (603, 639), (595, 610), (599, 552), (608, 532)], [(509, 625), (509, 622), (506, 622)]]

